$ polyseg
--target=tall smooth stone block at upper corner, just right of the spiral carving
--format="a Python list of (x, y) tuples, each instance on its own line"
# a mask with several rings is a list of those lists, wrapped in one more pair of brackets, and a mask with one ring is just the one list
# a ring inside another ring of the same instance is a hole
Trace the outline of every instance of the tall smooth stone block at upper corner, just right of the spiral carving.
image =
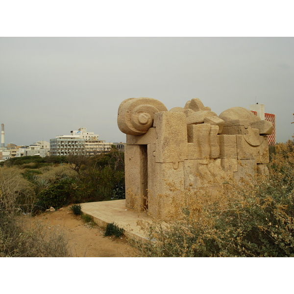
[(156, 162), (184, 161), (188, 157), (186, 116), (179, 112), (158, 112), (154, 116), (156, 127)]

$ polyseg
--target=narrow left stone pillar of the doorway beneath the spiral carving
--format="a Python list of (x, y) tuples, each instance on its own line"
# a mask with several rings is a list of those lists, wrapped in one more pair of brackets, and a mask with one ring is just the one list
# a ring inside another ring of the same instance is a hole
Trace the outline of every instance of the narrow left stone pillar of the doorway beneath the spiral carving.
[(125, 165), (125, 205), (144, 210), (147, 199), (147, 146), (126, 145)]

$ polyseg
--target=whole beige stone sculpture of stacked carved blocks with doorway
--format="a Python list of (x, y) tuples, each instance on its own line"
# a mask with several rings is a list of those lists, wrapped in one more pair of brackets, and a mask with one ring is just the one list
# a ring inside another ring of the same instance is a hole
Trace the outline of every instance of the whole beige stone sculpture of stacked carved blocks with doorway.
[(215, 196), (223, 181), (268, 173), (272, 125), (242, 107), (217, 116), (198, 98), (170, 111), (153, 98), (129, 98), (118, 126), (126, 134), (126, 206), (155, 218), (172, 215), (175, 189), (205, 186)]

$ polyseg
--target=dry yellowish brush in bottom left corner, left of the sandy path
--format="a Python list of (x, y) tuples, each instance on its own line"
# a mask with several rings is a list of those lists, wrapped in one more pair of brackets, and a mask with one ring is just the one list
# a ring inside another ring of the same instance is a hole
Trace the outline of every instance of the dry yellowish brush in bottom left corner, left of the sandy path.
[(20, 171), (0, 169), (0, 257), (69, 256), (62, 232), (35, 224), (27, 227), (20, 212), (31, 212), (34, 191)]

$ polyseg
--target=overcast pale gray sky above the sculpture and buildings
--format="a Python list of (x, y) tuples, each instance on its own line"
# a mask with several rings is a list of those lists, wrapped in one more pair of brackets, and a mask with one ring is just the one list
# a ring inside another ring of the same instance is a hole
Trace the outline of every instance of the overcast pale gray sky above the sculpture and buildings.
[(1, 37), (0, 123), (5, 145), (86, 127), (125, 142), (117, 111), (149, 97), (168, 109), (199, 98), (218, 115), (258, 102), (276, 115), (276, 141), (294, 133), (291, 37)]

